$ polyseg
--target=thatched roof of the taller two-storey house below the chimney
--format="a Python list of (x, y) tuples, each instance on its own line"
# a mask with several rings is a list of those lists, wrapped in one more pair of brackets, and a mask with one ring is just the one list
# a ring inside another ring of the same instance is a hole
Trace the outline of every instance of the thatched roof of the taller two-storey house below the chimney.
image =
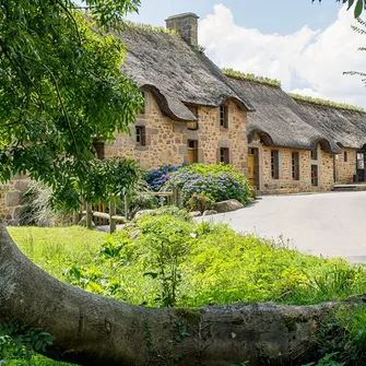
[(185, 104), (219, 106), (232, 99), (241, 109), (253, 109), (211, 60), (178, 35), (130, 25), (121, 38), (128, 47), (121, 71), (150, 88), (170, 118), (197, 120)]

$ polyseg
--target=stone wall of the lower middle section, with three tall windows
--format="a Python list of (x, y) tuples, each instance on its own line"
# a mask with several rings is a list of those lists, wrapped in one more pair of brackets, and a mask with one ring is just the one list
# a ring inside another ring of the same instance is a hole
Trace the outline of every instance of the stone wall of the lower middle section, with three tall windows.
[[(279, 179), (273, 179), (271, 175), (271, 151), (279, 151), (280, 172)], [(292, 174), (292, 153), (299, 154), (299, 179), (293, 179)], [(318, 150), (319, 160), (311, 161), (309, 150), (296, 150), (285, 147), (262, 146), (259, 151), (259, 166), (261, 166), (260, 192), (268, 194), (297, 193), (308, 191), (331, 190), (334, 184), (333, 175), (333, 154)], [(311, 164), (319, 166), (319, 184), (317, 187), (311, 185)]]

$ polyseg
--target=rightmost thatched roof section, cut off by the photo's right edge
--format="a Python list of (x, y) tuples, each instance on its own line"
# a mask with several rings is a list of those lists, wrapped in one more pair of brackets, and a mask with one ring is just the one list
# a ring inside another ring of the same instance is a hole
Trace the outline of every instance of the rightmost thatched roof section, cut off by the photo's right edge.
[(297, 101), (300, 116), (309, 125), (329, 134), (344, 147), (366, 144), (366, 113)]

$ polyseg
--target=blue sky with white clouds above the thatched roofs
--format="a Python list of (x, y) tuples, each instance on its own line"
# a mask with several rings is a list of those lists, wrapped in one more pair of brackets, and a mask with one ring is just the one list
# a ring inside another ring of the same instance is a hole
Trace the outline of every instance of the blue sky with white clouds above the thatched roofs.
[(142, 0), (139, 23), (165, 25), (165, 19), (193, 12), (199, 44), (221, 68), (278, 79), (286, 92), (366, 107), (361, 76), (366, 71), (366, 35), (352, 11), (334, 0)]

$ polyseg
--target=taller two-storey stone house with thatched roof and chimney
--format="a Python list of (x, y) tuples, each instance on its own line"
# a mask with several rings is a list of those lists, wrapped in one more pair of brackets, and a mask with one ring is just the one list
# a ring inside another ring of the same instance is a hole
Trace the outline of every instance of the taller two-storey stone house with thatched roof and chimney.
[(253, 107), (197, 46), (192, 13), (169, 17), (167, 31), (129, 25), (121, 71), (145, 97), (145, 109), (104, 155), (134, 158), (145, 168), (184, 162), (231, 163), (247, 172), (247, 114)]

